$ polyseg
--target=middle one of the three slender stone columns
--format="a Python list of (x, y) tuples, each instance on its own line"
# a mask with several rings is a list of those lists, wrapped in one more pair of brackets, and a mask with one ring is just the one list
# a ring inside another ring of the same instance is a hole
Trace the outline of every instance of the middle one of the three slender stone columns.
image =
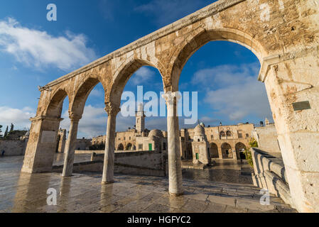
[(115, 150), (115, 128), (117, 114), (121, 109), (112, 104), (107, 104), (107, 137), (105, 141), (104, 166), (102, 184), (112, 184), (114, 182), (114, 150)]

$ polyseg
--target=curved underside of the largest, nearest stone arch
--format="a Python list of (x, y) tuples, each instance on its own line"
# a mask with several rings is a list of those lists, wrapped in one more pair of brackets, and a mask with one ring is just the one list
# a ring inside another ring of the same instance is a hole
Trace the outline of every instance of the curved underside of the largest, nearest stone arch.
[(197, 31), (190, 34), (188, 38), (175, 50), (169, 65), (171, 66), (172, 91), (178, 91), (178, 82), (180, 73), (190, 57), (202, 46), (211, 42), (225, 40), (232, 43), (238, 43), (251, 50), (254, 55), (262, 62), (262, 58), (267, 55), (266, 50), (255, 40), (252, 35), (233, 28), (218, 28), (206, 30), (198, 28)]

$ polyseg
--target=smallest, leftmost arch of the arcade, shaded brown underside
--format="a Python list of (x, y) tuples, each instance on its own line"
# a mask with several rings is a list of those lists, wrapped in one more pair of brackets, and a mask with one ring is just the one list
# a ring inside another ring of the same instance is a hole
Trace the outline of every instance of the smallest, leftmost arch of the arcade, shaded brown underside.
[[(48, 103), (48, 107), (45, 110), (45, 116), (60, 118), (62, 114), (63, 101), (66, 98), (67, 92), (65, 89), (58, 89)], [(70, 96), (69, 101), (70, 101)]]

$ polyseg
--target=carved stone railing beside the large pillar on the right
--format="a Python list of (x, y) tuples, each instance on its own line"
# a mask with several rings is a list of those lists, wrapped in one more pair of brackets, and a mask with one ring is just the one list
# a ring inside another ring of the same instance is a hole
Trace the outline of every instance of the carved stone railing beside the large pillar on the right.
[(294, 207), (281, 155), (266, 153), (258, 148), (252, 148), (251, 152), (254, 162), (254, 175), (252, 175), (254, 185), (268, 189), (270, 193), (276, 194), (286, 204)]

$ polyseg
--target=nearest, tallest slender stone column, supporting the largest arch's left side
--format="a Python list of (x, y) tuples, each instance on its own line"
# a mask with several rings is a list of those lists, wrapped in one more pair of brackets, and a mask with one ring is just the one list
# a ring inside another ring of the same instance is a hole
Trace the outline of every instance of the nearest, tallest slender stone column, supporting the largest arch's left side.
[(167, 106), (168, 131), (168, 179), (169, 193), (179, 196), (183, 194), (182, 162), (180, 160), (180, 131), (178, 126), (177, 102), (178, 92), (163, 94)]

